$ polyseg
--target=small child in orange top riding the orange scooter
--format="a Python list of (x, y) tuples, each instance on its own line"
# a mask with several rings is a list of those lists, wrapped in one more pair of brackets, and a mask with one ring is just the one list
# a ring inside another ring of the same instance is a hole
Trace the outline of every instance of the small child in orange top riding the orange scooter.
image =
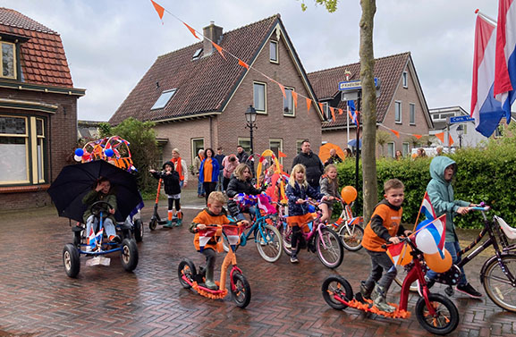
[[(227, 224), (231, 223), (227, 218), (224, 210), (224, 194), (222, 192), (211, 192), (207, 197), (207, 207), (203, 209), (190, 224), (190, 232), (195, 233), (193, 244), (197, 251), (200, 252), (199, 231), (204, 231), (207, 225), (211, 224)], [(204, 246), (202, 255), (206, 257), (206, 282), (208, 289), (217, 290), (218, 287), (214, 282), (214, 268), (216, 263), (216, 252), (222, 251), (217, 246), (217, 238), (212, 237)]]

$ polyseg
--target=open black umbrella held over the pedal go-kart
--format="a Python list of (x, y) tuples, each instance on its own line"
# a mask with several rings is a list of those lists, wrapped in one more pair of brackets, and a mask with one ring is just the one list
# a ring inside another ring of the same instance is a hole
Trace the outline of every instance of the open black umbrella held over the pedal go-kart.
[(97, 186), (97, 179), (104, 177), (111, 183), (116, 195), (117, 221), (124, 221), (135, 206), (142, 202), (136, 178), (104, 160), (64, 166), (48, 189), (59, 216), (82, 222), (82, 215), (88, 205), (82, 198)]

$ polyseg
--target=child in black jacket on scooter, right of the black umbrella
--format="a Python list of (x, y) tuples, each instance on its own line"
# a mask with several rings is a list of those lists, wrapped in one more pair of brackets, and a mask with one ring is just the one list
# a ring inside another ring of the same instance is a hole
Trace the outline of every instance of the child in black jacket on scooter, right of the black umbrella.
[(166, 228), (172, 228), (172, 218), (173, 218), (173, 205), (175, 204), (175, 210), (177, 212), (177, 223), (179, 226), (182, 223), (182, 214), (181, 214), (181, 186), (179, 184), (179, 173), (177, 173), (173, 169), (172, 162), (166, 162), (163, 164), (163, 172), (156, 172), (156, 170), (149, 170), (150, 173), (156, 179), (163, 179), (165, 184), (165, 194), (168, 197), (168, 221), (163, 226)]

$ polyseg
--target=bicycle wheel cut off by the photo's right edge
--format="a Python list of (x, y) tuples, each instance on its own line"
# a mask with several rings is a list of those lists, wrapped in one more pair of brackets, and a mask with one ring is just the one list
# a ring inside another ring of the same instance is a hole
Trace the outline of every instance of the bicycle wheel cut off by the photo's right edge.
[[(516, 256), (506, 255), (502, 257), (504, 267), (516, 276)], [(480, 281), (484, 285), (486, 294), (495, 305), (508, 311), (516, 312), (516, 288), (503, 273), (502, 267), (496, 258), (486, 265), (485, 273), (480, 274)]]

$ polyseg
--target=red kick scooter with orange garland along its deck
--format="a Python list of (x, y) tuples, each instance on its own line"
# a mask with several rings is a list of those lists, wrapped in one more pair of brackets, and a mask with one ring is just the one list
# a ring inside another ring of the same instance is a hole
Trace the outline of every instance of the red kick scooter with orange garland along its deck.
[(452, 333), (457, 324), (459, 324), (459, 311), (450, 299), (428, 291), (425, 274), (420, 263), (424, 258), (423, 253), (417, 249), (415, 239), (413, 238), (413, 236), (400, 238), (402, 242), (406, 242), (409, 245), (412, 262), (405, 267), (408, 270), (408, 274), (403, 280), (400, 304), (389, 303), (396, 308), (393, 313), (379, 310), (373, 305), (372, 300), (363, 299), (360, 292), (353, 297), (350, 283), (339, 275), (328, 276), (323, 282), (322, 291), (326, 303), (338, 310), (351, 307), (390, 318), (408, 318), (410, 317), (410, 312), (407, 312), (410, 284), (419, 280), (423, 293), (423, 296), (418, 299), (415, 308), (419, 324), (430, 333)]

